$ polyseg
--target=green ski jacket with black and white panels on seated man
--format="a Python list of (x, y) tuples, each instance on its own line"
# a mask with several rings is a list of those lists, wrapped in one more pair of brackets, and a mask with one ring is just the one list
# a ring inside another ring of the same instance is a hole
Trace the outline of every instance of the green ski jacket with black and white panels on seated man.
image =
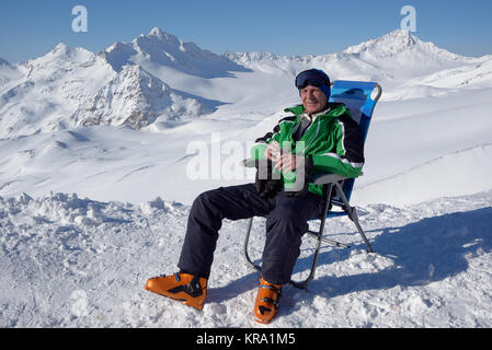
[[(317, 115), (304, 136), (295, 141), (293, 135), (299, 128), (305, 108), (302, 105), (286, 108), (287, 116), (278, 121), (273, 132), (256, 139), (251, 154), (254, 160), (265, 159), (270, 142), (277, 141), (282, 149), (293, 154), (304, 154), (312, 160), (314, 174), (332, 173), (345, 177), (357, 177), (364, 165), (363, 133), (350, 110), (339, 103), (329, 103), (328, 109)], [(300, 142), (304, 141), (304, 142)], [(296, 171), (282, 173), (284, 187), (293, 186)], [(309, 191), (322, 196), (322, 186), (309, 184)]]

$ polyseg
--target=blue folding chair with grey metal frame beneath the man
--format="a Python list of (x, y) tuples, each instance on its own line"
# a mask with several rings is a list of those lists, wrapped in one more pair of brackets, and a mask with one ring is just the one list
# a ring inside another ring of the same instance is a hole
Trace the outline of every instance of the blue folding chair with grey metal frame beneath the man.
[[(382, 89), (375, 82), (361, 82), (361, 81), (334, 81), (331, 88), (330, 102), (343, 103), (351, 110), (352, 118), (358, 122), (361, 130), (363, 131), (364, 142), (367, 137), (367, 131), (373, 116), (374, 108), (379, 97), (381, 96)], [(254, 163), (244, 161), (245, 166), (254, 166)], [(367, 253), (373, 253), (373, 247), (364, 234), (364, 230), (358, 222), (358, 215), (355, 207), (351, 207), (350, 199), (352, 189), (354, 187), (354, 178), (346, 178), (337, 174), (319, 174), (314, 177), (313, 183), (317, 185), (323, 185), (323, 200), (322, 211), (320, 214), (316, 214), (312, 220), (320, 220), (320, 229), (318, 232), (308, 230), (307, 234), (316, 238), (316, 250), (312, 258), (312, 266), (309, 276), (304, 281), (293, 281), (290, 284), (299, 289), (307, 289), (308, 283), (314, 278), (314, 271), (318, 262), (318, 255), (321, 248), (321, 243), (324, 242), (335, 247), (350, 248), (348, 245), (339, 243), (323, 236), (324, 224), (327, 219), (347, 215), (352, 222), (354, 222), (357, 231), (366, 245)], [(336, 211), (332, 210), (337, 208)], [(253, 219), (249, 219), (247, 235), (244, 240), (244, 257), (248, 264), (260, 271), (261, 267), (255, 265), (249, 254), (248, 244), (250, 240), (251, 228), (253, 225)], [(311, 220), (311, 221), (312, 221)]]

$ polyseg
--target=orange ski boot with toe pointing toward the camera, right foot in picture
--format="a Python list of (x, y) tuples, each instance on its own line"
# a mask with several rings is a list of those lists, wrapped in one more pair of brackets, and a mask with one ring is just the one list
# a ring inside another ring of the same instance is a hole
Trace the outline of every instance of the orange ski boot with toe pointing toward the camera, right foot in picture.
[(268, 324), (277, 313), (281, 295), (282, 285), (268, 283), (262, 277), (254, 304), (254, 320)]

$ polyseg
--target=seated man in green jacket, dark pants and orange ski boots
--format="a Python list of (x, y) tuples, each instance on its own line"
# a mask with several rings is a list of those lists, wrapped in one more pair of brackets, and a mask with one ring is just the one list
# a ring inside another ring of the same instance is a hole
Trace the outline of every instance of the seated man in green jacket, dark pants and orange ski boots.
[(267, 215), (254, 319), (267, 324), (275, 316), (282, 285), (289, 283), (300, 253), (301, 236), (320, 207), (322, 187), (310, 182), (311, 176), (357, 177), (364, 164), (358, 125), (343, 104), (328, 102), (329, 77), (310, 69), (297, 75), (296, 88), (302, 104), (285, 109), (289, 115), (258, 139), (252, 150), (253, 158), (266, 161), (273, 172), (264, 177), (259, 170), (255, 184), (199, 195), (190, 212), (180, 272), (149, 279), (147, 290), (202, 310), (222, 219)]

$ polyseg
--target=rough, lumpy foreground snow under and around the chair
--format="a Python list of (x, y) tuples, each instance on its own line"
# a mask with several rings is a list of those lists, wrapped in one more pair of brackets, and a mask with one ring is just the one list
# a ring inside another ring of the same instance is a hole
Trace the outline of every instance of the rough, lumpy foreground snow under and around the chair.
[[(492, 191), (405, 208), (359, 208), (375, 254), (331, 219), (309, 291), (285, 287), (278, 317), (253, 320), (259, 273), (242, 258), (247, 221), (225, 220), (202, 312), (144, 290), (175, 271), (188, 206), (77, 195), (0, 197), (1, 327), (491, 327)], [(264, 219), (250, 254), (259, 259)], [(312, 222), (312, 229), (316, 223)], [(313, 241), (304, 240), (295, 278)]]

